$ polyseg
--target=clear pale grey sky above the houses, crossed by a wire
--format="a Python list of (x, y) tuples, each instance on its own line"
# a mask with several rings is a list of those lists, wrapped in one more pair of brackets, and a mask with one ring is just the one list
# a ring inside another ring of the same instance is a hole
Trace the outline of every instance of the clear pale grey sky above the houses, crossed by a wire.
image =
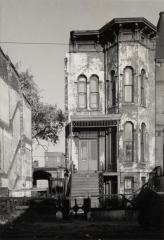
[[(0, 45), (21, 70), (31, 71), (43, 101), (64, 110), (64, 57), (70, 31), (97, 30), (115, 17), (145, 17), (157, 25), (161, 11), (163, 0), (0, 0)], [(55, 151), (64, 152), (64, 134)]]

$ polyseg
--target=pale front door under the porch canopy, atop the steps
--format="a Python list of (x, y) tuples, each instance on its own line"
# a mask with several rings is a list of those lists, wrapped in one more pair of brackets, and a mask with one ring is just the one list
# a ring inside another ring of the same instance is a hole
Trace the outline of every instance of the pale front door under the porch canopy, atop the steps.
[(81, 139), (79, 144), (79, 171), (96, 171), (97, 163), (97, 139)]

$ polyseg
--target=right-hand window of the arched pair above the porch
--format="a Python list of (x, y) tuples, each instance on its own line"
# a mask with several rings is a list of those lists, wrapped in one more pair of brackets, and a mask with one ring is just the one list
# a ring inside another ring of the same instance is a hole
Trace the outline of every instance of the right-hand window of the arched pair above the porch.
[(99, 107), (99, 79), (93, 75), (90, 78), (90, 108), (98, 109)]

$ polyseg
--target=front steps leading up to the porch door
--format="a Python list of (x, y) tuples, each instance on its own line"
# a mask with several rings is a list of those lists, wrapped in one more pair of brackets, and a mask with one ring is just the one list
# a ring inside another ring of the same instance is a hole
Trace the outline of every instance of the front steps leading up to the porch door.
[(73, 173), (71, 185), (72, 199), (77, 199), (77, 203), (81, 205), (84, 198), (91, 197), (91, 207), (97, 207), (98, 195), (99, 195), (98, 173), (95, 172)]

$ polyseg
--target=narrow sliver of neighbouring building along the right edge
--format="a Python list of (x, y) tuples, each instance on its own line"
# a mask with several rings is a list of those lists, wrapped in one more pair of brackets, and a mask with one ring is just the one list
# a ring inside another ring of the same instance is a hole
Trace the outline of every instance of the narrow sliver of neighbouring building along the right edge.
[(160, 191), (164, 191), (164, 12), (157, 24), (156, 41), (156, 166), (161, 167)]

